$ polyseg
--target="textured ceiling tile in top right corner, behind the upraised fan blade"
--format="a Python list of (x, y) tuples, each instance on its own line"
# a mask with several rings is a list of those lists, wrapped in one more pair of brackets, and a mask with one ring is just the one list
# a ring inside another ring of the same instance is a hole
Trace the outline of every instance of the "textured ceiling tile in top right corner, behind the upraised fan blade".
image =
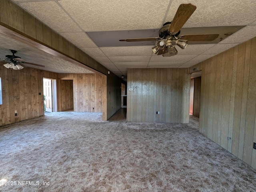
[(184, 27), (247, 25), (256, 18), (255, 0), (211, 0), (210, 2), (202, 0), (183, 0), (182, 2), (173, 0), (166, 22), (172, 21), (181, 3), (191, 3), (197, 6), (197, 9)]

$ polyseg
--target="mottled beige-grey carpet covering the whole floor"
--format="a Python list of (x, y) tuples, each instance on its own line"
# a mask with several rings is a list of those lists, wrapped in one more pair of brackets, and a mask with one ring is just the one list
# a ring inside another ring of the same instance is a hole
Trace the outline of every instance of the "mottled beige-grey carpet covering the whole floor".
[(256, 191), (256, 170), (189, 124), (54, 112), (0, 127), (0, 191)]

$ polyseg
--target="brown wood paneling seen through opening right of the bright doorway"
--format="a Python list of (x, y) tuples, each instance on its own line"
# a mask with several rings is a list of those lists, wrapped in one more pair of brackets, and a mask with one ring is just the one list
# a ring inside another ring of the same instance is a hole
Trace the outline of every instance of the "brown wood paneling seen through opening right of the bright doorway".
[(60, 110), (74, 108), (73, 80), (60, 80)]

